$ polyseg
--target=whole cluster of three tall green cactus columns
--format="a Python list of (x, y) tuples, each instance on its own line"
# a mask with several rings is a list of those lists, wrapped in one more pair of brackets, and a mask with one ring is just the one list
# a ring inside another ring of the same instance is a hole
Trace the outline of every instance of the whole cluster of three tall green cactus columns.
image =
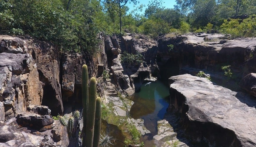
[[(82, 146), (97, 147), (99, 144), (100, 118), (101, 118), (101, 99), (96, 100), (96, 78), (91, 78), (88, 89), (88, 69), (86, 65), (82, 66), (82, 98), (83, 98), (83, 130)], [(96, 102), (97, 101), (97, 102)], [(97, 103), (97, 106), (95, 106)], [(95, 112), (96, 111), (96, 112)], [(95, 116), (95, 113), (97, 114)], [(96, 118), (95, 118), (96, 117)], [(96, 120), (95, 120), (96, 119)], [(94, 123), (97, 121), (96, 126)], [(94, 135), (95, 128), (95, 135)], [(94, 137), (95, 136), (95, 137)]]

